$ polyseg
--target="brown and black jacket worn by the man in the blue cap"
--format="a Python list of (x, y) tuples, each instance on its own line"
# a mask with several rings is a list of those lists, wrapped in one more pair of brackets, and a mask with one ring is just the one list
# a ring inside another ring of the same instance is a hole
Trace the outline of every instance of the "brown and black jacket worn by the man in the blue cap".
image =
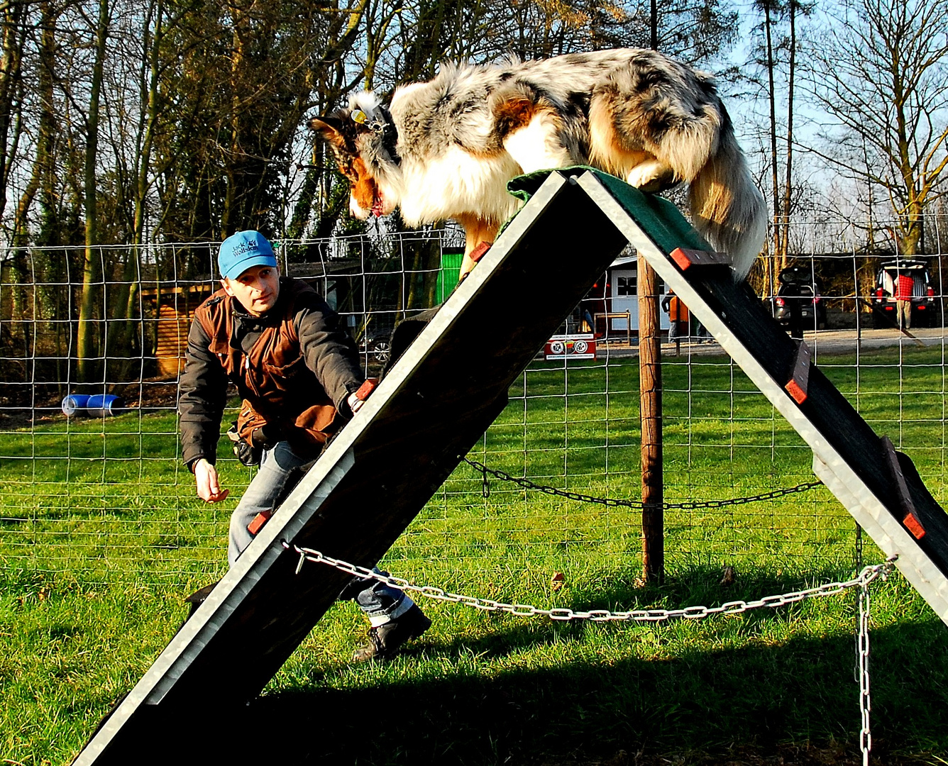
[(228, 382), (243, 399), (237, 427), (247, 441), (262, 429), (268, 442), (316, 454), (352, 414), (346, 399), (362, 380), (355, 343), (306, 283), (282, 277), (279, 301), (261, 318), (218, 290), (194, 312), (188, 336), (178, 397), (184, 462), (215, 461)]

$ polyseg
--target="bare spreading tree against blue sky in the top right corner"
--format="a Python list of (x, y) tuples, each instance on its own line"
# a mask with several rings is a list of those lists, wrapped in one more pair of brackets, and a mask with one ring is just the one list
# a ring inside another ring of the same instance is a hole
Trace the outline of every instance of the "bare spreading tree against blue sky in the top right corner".
[(808, 56), (808, 89), (832, 119), (827, 146), (810, 149), (887, 192), (904, 255), (919, 251), (948, 165), (946, 28), (948, 0), (848, 0)]

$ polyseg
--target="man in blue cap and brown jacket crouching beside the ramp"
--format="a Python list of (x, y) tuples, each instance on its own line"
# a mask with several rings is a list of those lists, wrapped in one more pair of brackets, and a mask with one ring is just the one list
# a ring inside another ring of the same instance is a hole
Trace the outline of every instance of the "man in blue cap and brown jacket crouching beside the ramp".
[[(361, 406), (356, 392), (364, 375), (337, 314), (308, 284), (280, 276), (263, 234), (228, 237), (217, 264), (222, 287), (194, 312), (178, 414), (182, 456), (197, 494), (220, 502), (228, 497), (215, 465), (228, 382), (243, 399), (228, 437), (241, 462), (260, 469), (230, 518), (232, 566)], [(190, 600), (208, 593), (202, 589)], [(374, 579), (354, 580), (342, 597), (355, 598), (371, 623), (356, 661), (388, 659), (431, 624), (403, 591)]]

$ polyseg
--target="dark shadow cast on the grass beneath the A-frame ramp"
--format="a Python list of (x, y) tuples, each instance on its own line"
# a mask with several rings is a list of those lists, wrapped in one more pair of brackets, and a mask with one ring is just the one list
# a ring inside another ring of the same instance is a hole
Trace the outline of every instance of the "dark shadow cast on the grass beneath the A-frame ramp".
[[(717, 570), (693, 570), (661, 589), (615, 583), (594, 598), (574, 594), (571, 606), (628, 609), (660, 599), (671, 606), (720, 603), (807, 587), (761, 576), (724, 589), (715, 578)], [(751, 619), (777, 615), (760, 610)], [(652, 652), (657, 659), (615, 661), (596, 656), (587, 631), (622, 626), (547, 627), (505, 621), (494, 634), (473, 641), (438, 643), (426, 637), (382, 678), (367, 673), (364, 688), (320, 687), (321, 675), (315, 674), (311, 688), (251, 702), (247, 720), (262, 721), (262, 734), (279, 731), (283, 763), (861, 762), (852, 635), (797, 634), (780, 643), (757, 639), (750, 646), (714, 650), (679, 646), (674, 654)], [(944, 626), (934, 617), (906, 621), (874, 630), (871, 638), (878, 762), (917, 763), (911, 754), (944, 753)], [(590, 650), (580, 652), (583, 659), (554, 668), (499, 662), (510, 669), (489, 678), (454, 665), (462, 652), (489, 662), (563, 640), (589, 643)], [(431, 660), (439, 657), (446, 658), (447, 670), (431, 669), (438, 666)], [(419, 662), (428, 667), (423, 677), (411, 670), (406, 680), (399, 668)], [(339, 667), (326, 670), (334, 671)], [(248, 763), (267, 762), (274, 744), (268, 736), (252, 738), (242, 755)]]

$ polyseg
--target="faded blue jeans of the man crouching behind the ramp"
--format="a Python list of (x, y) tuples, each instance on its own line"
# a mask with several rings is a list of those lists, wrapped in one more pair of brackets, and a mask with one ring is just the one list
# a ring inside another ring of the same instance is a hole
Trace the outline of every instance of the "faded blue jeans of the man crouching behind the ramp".
[[(230, 517), (230, 541), (228, 563), (234, 565), (237, 558), (253, 539), (247, 525), (262, 511), (272, 512), (280, 507), (293, 487), (299, 483), (315, 460), (301, 458), (289, 442), (277, 442), (264, 449), (257, 475), (249, 483), (244, 497), (237, 503)], [(326, 551), (331, 554), (331, 551)], [(377, 569), (374, 572), (378, 573)], [(388, 576), (382, 572), (381, 575)], [(352, 598), (361, 607), (373, 626), (383, 625), (409, 611), (414, 602), (397, 588), (385, 585), (371, 577), (353, 578), (340, 593), (342, 598)]]

